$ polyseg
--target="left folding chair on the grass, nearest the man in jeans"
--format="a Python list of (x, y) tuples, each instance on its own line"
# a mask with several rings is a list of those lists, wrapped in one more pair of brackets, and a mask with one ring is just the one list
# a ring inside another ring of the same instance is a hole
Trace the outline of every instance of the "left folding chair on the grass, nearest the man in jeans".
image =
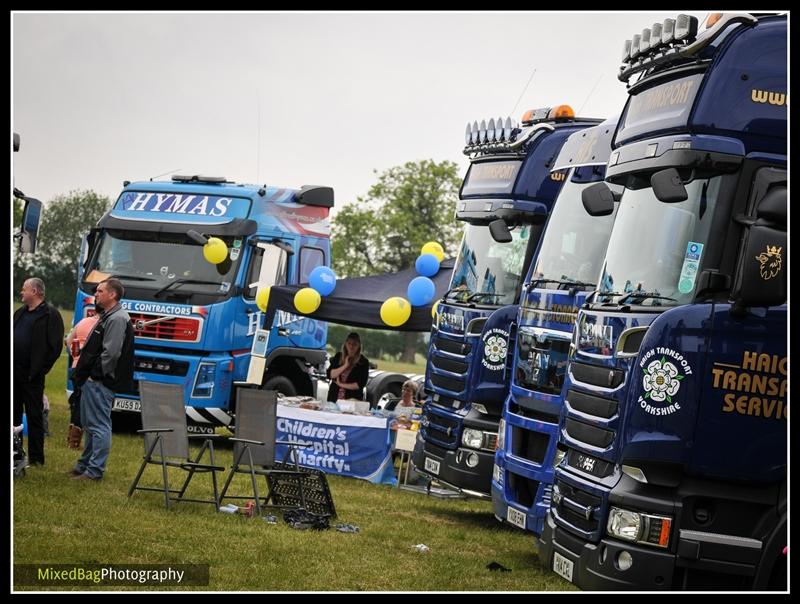
[[(142, 429), (144, 434), (144, 458), (136, 478), (128, 489), (128, 497), (134, 491), (161, 491), (164, 493), (164, 503), (167, 509), (170, 501), (191, 501), (195, 503), (213, 503), (219, 511), (220, 497), (217, 489), (217, 472), (224, 472), (224, 466), (214, 464), (214, 444), (208, 436), (190, 435), (186, 431), (186, 409), (183, 403), (183, 387), (179, 384), (159, 384), (156, 382), (139, 382), (139, 393), (142, 399)], [(190, 458), (189, 438), (204, 438), (203, 446), (194, 459)], [(210, 464), (201, 463), (200, 460), (208, 449), (211, 457)], [(142, 487), (139, 479), (148, 464), (161, 466), (163, 484), (158, 487)], [(188, 472), (188, 476), (180, 489), (169, 488), (169, 475), (167, 468), (180, 468)], [(211, 472), (211, 481), (214, 485), (214, 499), (188, 499), (184, 497), (196, 472)], [(172, 496), (177, 494), (175, 496)]]

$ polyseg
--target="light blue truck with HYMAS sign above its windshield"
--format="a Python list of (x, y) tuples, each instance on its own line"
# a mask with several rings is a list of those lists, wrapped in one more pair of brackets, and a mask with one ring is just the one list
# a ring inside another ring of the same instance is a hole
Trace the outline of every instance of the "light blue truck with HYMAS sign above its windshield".
[[(313, 396), (327, 324), (280, 311), (263, 326), (256, 294), (306, 283), (315, 267), (330, 265), (332, 206), (330, 187), (294, 190), (197, 175), (126, 181), (84, 239), (74, 315), (77, 323), (94, 313), (100, 280), (122, 282), (135, 373), (134, 390), (114, 400), (115, 422), (136, 419), (142, 379), (181, 384), (196, 432), (231, 423), (237, 384)], [(219, 264), (204, 258), (210, 237), (228, 248)]]

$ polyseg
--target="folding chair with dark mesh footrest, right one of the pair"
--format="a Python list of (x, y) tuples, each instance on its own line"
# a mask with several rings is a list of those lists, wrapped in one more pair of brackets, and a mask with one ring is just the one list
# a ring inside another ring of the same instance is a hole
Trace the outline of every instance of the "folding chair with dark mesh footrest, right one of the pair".
[[(329, 513), (334, 515), (333, 501), (327, 489), (325, 474), (318, 470), (300, 468), (296, 447), (306, 447), (304, 443), (276, 441), (278, 399), (272, 390), (239, 388), (236, 395), (236, 431), (230, 440), (235, 443), (233, 449), (233, 466), (222, 487), (220, 500), (251, 499), (249, 496), (227, 495), (233, 477), (237, 474), (249, 474), (253, 488), (252, 499), (255, 500), (256, 513), (261, 515), (262, 498), (258, 493), (257, 476), (264, 476), (267, 484), (267, 495), (263, 505), (283, 509), (307, 509), (311, 503), (306, 498), (306, 489), (312, 489), (317, 495), (317, 485), (324, 483), (324, 493), (330, 501)], [(275, 445), (288, 445), (282, 462), (275, 459)], [(289, 461), (293, 461), (290, 465)], [(321, 475), (321, 478), (319, 477)], [(309, 482), (314, 481), (314, 485)], [(291, 486), (289, 486), (291, 485)], [(287, 489), (288, 487), (288, 489)], [(316, 497), (314, 497), (316, 500)], [(272, 503), (270, 503), (272, 502)], [(312, 506), (315, 507), (315, 506)]]

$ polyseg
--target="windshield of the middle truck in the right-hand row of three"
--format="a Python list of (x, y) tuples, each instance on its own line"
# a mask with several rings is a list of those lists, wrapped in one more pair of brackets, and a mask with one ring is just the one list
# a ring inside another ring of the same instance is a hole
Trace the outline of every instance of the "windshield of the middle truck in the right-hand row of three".
[(573, 180), (564, 183), (542, 239), (531, 275), (532, 287), (596, 287), (614, 215), (591, 216), (586, 211), (581, 191), (590, 184)]

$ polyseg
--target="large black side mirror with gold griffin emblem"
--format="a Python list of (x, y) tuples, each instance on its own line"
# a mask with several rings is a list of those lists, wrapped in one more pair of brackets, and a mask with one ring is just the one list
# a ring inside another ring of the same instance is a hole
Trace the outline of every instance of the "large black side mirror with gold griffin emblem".
[(756, 174), (744, 244), (734, 274), (731, 300), (736, 306), (779, 306), (786, 302), (786, 171), (762, 168)]

